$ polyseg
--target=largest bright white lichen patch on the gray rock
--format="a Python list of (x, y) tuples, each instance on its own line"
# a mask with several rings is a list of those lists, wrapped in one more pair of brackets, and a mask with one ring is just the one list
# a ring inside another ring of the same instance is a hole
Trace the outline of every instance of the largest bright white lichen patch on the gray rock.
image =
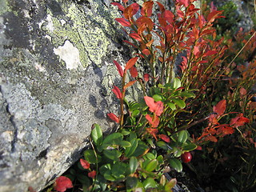
[(68, 40), (63, 46), (58, 46), (57, 49), (54, 48), (54, 54), (57, 54), (60, 60), (66, 62), (67, 70), (75, 70), (78, 69), (78, 66), (81, 66), (79, 50)]

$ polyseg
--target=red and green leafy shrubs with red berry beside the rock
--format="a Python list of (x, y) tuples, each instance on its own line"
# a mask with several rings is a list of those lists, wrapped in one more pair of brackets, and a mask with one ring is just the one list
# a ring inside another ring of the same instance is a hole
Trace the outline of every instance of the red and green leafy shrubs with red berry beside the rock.
[[(255, 189), (255, 29), (230, 30), (227, 10), (194, 2), (111, 3), (137, 51), (114, 61), (120, 111), (107, 116), (118, 129), (94, 124), (91, 148), (47, 191), (169, 192), (182, 171), (206, 191)], [(143, 96), (128, 102), (134, 84)]]

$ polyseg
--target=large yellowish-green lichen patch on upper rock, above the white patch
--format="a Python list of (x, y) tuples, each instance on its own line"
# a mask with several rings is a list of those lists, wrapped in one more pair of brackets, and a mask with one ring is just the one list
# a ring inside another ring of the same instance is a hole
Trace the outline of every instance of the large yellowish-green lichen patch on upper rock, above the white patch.
[[(90, 1), (90, 6), (91, 10), (74, 2), (67, 2), (63, 5), (66, 16), (58, 18), (49, 9), (47, 12), (51, 17), (48, 17), (44, 26), (55, 47), (62, 46), (69, 40), (78, 48), (83, 67), (92, 63), (101, 66), (102, 57), (108, 54), (109, 37), (115, 33), (111, 25), (114, 24), (114, 17), (117, 17), (114, 11), (102, 8), (101, 2)], [(53, 24), (53, 28), (47, 27), (49, 23)]]

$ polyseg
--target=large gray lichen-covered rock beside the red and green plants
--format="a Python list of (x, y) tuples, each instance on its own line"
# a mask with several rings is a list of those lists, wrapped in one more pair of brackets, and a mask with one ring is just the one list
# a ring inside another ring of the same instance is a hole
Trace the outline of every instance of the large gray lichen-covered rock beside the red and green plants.
[(101, 0), (0, 0), (0, 191), (42, 190), (74, 163), (90, 127), (114, 126), (113, 60), (130, 51)]

